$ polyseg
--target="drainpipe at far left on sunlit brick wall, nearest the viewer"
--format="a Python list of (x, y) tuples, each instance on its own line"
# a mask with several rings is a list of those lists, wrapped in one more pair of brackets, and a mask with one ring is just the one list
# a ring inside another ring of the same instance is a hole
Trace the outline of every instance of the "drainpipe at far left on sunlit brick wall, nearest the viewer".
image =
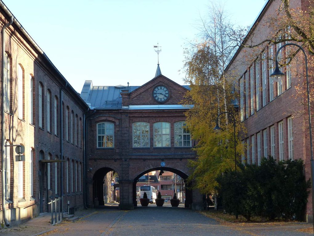
[(4, 60), (5, 60), (5, 29), (12, 25), (13, 23), (13, 16), (11, 16), (10, 21), (4, 25), (1, 29), (1, 42), (2, 42), (2, 59), (1, 59), (1, 205), (2, 205), (2, 214), (3, 214), (3, 220), (5, 225), (8, 227), (10, 226), (9, 221), (7, 219), (7, 209), (5, 207), (5, 172), (4, 172), (4, 166), (5, 166), (5, 160), (4, 160), (4, 108), (5, 108), (5, 100), (4, 100), (4, 87), (5, 87), (5, 81), (4, 81)]

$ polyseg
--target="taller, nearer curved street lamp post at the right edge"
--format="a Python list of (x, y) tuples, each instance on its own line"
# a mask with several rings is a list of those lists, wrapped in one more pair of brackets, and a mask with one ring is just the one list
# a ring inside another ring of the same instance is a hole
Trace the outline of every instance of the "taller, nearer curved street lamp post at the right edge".
[(310, 152), (311, 152), (311, 180), (312, 180), (312, 217), (313, 217), (313, 227), (314, 227), (314, 159), (313, 159), (313, 145), (312, 145), (312, 130), (311, 130), (311, 113), (310, 113), (310, 90), (309, 90), (309, 77), (308, 77), (308, 70), (307, 70), (307, 56), (306, 53), (304, 51), (304, 49), (296, 44), (296, 43), (286, 43), (284, 45), (282, 45), (280, 48), (278, 48), (277, 53), (276, 53), (276, 67), (275, 70), (273, 71), (273, 73), (270, 75), (273, 77), (273, 80), (275, 82), (279, 82), (280, 80), (282, 80), (282, 78), (284, 77), (284, 73), (282, 73), (279, 70), (279, 66), (278, 66), (278, 53), (281, 50), (281, 48), (284, 48), (288, 45), (293, 45), (296, 46), (298, 48), (300, 48), (304, 54), (305, 57), (305, 73), (306, 73), (306, 92), (307, 92), (307, 113), (309, 115), (309, 132), (310, 132)]

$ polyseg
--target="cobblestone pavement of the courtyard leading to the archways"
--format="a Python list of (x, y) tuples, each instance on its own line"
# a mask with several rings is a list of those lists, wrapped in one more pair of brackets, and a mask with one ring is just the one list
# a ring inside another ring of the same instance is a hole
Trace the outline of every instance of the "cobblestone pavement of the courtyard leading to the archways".
[[(67, 236), (306, 236), (311, 233), (299, 230), (311, 228), (311, 224), (242, 225), (219, 223), (197, 211), (183, 207), (137, 207), (133, 211), (98, 208), (78, 212), (82, 218), (76, 222), (62, 222), (57, 226), (47, 222), (28, 223), (0, 230), (1, 236), (67, 235)], [(36, 219), (36, 218), (35, 218)], [(35, 226), (37, 225), (37, 226)], [(49, 228), (48, 228), (49, 227)], [(49, 231), (49, 232), (47, 232)], [(46, 233), (45, 233), (46, 232)]]

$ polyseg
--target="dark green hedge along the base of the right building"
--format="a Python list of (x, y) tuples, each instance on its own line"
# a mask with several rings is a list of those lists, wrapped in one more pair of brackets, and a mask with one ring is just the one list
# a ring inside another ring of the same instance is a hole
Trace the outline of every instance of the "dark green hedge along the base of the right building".
[(240, 170), (226, 171), (217, 178), (224, 209), (250, 220), (260, 216), (263, 221), (295, 216), (303, 220), (310, 187), (304, 176), (303, 161), (279, 163), (273, 157), (263, 158), (261, 165), (238, 165)]

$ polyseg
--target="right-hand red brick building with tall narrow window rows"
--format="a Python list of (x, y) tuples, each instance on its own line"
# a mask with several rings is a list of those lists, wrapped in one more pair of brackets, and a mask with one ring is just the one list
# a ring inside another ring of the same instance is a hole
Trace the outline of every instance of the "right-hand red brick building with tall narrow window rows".
[[(277, 14), (276, 10), (281, 3), (279, 0), (268, 0), (244, 43), (258, 44), (272, 37), (273, 28), (267, 21)], [(308, 1), (303, 0), (290, 1), (290, 7), (294, 9), (306, 10), (307, 4)], [(302, 159), (305, 163), (306, 179), (309, 179), (311, 155), (309, 132), (306, 128), (307, 107), (300, 106), (300, 100), (295, 99), (298, 83), (306, 79), (305, 76), (297, 76), (305, 74), (304, 59), (298, 57), (300, 65), (290, 65), (294, 66), (294, 72), (291, 67), (287, 67), (284, 69), (284, 80), (274, 82), (269, 75), (273, 71), (275, 53), (281, 45), (283, 43), (269, 43), (264, 44), (263, 48), (239, 49), (227, 67), (228, 75), (238, 79), (240, 116), (247, 129), (242, 138), (243, 145), (247, 144), (247, 149), (242, 153), (242, 162), (259, 165), (261, 158), (268, 155), (278, 161)], [(260, 51), (256, 51), (259, 49)], [(252, 59), (252, 55), (256, 57)], [(301, 81), (298, 80), (299, 77)], [(294, 110), (303, 111), (304, 114), (297, 116)], [(306, 206), (306, 217), (308, 222), (313, 220), (311, 193)]]

